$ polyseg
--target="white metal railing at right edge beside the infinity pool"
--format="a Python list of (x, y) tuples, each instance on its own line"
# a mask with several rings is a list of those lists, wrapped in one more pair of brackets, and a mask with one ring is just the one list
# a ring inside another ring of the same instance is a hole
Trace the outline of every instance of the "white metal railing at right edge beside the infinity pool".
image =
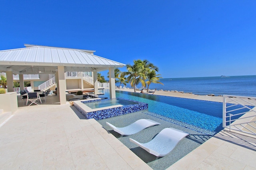
[[(232, 129), (251, 135), (256, 135), (255, 100), (255, 97), (223, 95), (222, 127), (228, 128), (229, 130)], [(229, 106), (227, 106), (227, 104)]]

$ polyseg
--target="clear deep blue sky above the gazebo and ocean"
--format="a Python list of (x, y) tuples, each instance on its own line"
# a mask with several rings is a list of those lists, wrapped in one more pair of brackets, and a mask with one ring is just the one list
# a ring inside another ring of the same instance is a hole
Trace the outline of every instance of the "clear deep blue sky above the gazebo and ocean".
[(255, 9), (255, 0), (0, 0), (0, 50), (96, 50), (124, 64), (148, 59), (163, 78), (256, 75)]

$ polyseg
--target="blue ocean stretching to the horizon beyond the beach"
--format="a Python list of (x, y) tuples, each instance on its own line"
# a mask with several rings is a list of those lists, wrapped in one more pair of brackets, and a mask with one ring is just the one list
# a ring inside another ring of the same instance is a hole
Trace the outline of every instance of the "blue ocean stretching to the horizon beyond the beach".
[[(164, 84), (151, 83), (151, 90), (177, 90), (184, 93), (192, 92), (198, 95), (214, 94), (256, 97), (256, 76), (229, 77), (195, 77), (195, 78), (162, 78)], [(119, 86), (120, 83), (116, 83)], [(124, 86), (124, 84), (122, 84)], [(136, 87), (141, 88), (141, 84)], [(131, 88), (130, 84), (127, 84)]]

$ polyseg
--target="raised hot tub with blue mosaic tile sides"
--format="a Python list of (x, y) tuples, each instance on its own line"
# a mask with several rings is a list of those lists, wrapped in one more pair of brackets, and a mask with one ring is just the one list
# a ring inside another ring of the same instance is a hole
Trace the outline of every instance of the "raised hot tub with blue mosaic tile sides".
[(148, 104), (123, 98), (74, 101), (74, 106), (86, 119), (106, 119), (127, 113), (148, 109)]

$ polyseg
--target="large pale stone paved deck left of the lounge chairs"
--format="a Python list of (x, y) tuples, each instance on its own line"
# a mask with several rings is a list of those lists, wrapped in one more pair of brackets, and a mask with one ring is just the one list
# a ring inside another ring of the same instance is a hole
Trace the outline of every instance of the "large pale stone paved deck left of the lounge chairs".
[(151, 169), (79, 114), (68, 103), (19, 107), (0, 128), (1, 169)]

